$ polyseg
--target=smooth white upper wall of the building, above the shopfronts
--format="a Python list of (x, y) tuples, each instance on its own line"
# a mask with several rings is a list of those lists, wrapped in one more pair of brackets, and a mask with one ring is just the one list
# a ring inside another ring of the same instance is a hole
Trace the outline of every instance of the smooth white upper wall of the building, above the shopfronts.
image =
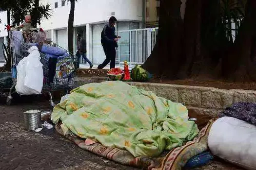
[[(65, 28), (68, 25), (70, 3), (61, 6), (61, 0), (41, 0), (48, 2), (53, 9), (53, 16), (49, 20), (43, 20), (41, 27), (45, 30)], [(78, 0), (75, 6), (74, 26), (108, 21), (114, 13), (118, 20), (142, 20), (141, 0)]]

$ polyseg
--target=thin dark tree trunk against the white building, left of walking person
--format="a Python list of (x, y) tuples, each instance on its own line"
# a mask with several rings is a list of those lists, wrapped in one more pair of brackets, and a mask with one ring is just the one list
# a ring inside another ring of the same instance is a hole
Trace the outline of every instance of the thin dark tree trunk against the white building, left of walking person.
[(74, 14), (75, 0), (70, 0), (70, 13), (68, 17), (68, 51), (74, 53), (73, 49), (73, 30), (74, 30)]

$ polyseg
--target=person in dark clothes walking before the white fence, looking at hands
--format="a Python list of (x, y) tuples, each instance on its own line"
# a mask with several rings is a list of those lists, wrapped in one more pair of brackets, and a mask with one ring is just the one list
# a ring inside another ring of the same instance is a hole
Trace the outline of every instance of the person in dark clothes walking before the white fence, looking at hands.
[(116, 35), (115, 25), (117, 22), (116, 17), (110, 17), (109, 23), (106, 24), (101, 32), (101, 45), (103, 47), (106, 59), (100, 65), (98, 69), (104, 68), (110, 62), (110, 68), (115, 68), (116, 66), (116, 48), (118, 47), (118, 38), (120, 36)]

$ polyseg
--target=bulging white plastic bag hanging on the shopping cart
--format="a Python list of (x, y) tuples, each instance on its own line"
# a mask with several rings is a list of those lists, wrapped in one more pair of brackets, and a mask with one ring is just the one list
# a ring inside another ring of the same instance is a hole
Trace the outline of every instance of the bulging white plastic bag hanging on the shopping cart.
[(40, 94), (43, 86), (43, 69), (40, 53), (36, 46), (30, 47), (27, 57), (17, 66), (17, 93), (21, 95)]

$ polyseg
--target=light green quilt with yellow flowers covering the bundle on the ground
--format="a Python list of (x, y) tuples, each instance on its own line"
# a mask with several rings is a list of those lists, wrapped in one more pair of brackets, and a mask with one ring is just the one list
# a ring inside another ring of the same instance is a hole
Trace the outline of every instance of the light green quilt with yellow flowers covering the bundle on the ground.
[[(159, 156), (193, 140), (199, 130), (188, 110), (121, 81), (91, 83), (71, 91), (51, 119), (63, 131), (137, 156)], [(66, 129), (66, 130), (65, 130)]]

